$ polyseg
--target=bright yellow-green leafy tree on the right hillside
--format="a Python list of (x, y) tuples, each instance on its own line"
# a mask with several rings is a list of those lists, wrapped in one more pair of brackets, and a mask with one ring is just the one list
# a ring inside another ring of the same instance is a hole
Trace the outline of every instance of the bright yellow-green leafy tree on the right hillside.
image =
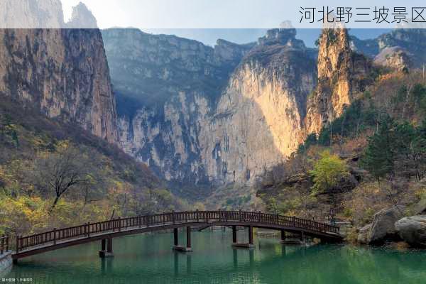
[(349, 171), (344, 160), (329, 151), (323, 151), (310, 174), (314, 179), (313, 192), (318, 193), (332, 189), (342, 178), (349, 175)]

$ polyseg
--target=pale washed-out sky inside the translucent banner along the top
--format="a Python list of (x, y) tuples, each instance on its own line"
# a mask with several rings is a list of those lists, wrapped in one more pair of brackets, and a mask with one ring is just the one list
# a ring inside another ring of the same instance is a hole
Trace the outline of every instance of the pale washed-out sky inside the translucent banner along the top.
[[(80, 0), (62, 0), (65, 15)], [(101, 28), (136, 26), (138, 28), (273, 28), (284, 20), (300, 26), (300, 7), (426, 6), (424, 0), (82, 0), (96, 16)], [(344, 2), (344, 3), (343, 3)], [(327, 7), (326, 7), (327, 8)], [(409, 15), (410, 16), (410, 15)], [(425, 13), (426, 16), (426, 13)], [(315, 21), (317, 23), (317, 21)], [(356, 26), (350, 26), (350, 25)], [(349, 28), (385, 28), (386, 23), (349, 23)], [(317, 28), (321, 24), (317, 23)], [(303, 26), (312, 28), (314, 24)]]

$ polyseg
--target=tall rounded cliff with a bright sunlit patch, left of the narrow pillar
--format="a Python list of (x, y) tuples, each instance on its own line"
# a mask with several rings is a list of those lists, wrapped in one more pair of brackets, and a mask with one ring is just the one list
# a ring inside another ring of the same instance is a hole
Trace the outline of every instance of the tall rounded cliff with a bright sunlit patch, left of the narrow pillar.
[(207, 174), (223, 183), (253, 182), (285, 160), (304, 138), (315, 60), (295, 30), (272, 30), (229, 80), (200, 141)]

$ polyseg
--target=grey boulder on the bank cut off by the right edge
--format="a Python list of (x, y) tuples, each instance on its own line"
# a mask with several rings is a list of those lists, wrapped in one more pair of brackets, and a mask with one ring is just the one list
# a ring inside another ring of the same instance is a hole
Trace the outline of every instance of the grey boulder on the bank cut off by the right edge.
[(410, 246), (426, 247), (426, 215), (400, 219), (395, 222), (395, 229)]

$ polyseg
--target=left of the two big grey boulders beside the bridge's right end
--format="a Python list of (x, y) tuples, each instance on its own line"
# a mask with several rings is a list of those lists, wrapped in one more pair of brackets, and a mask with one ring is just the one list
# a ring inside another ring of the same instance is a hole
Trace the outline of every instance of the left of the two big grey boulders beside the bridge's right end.
[(399, 239), (395, 229), (395, 222), (403, 217), (403, 207), (382, 209), (374, 214), (371, 229), (367, 234), (368, 244), (383, 244), (383, 242)]

